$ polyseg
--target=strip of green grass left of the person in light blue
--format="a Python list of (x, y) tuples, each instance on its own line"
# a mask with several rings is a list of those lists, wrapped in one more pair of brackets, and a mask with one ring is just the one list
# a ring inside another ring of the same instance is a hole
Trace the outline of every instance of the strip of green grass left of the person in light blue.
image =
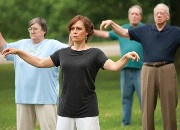
[(12, 64), (0, 65), (0, 130), (15, 130), (14, 70)]

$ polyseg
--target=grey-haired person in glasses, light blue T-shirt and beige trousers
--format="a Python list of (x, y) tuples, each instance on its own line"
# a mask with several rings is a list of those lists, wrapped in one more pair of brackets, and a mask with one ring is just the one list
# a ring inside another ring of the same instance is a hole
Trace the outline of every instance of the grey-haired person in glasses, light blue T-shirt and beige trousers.
[[(7, 44), (0, 34), (0, 50), (12, 47), (44, 58), (56, 50), (67, 47), (57, 40), (45, 39), (47, 24), (44, 19), (29, 22), (30, 39)], [(15, 102), (17, 106), (17, 130), (33, 130), (37, 117), (42, 130), (55, 130), (59, 96), (59, 68), (36, 68), (17, 55), (9, 55), (14, 62)]]

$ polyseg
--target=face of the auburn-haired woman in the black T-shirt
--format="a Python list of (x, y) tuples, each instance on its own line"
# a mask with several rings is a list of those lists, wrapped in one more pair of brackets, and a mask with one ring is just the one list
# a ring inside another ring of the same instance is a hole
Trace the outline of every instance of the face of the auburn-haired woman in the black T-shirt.
[(84, 23), (81, 20), (77, 21), (71, 26), (70, 37), (74, 43), (85, 42), (87, 34), (88, 33), (86, 32)]

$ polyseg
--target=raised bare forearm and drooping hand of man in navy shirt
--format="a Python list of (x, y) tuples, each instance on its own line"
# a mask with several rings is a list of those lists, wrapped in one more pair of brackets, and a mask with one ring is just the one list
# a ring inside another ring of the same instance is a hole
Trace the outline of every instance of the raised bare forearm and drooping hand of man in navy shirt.
[(121, 26), (119, 26), (118, 24), (113, 22), (112, 20), (102, 21), (102, 23), (100, 25), (100, 30), (102, 30), (103, 28), (106, 29), (108, 26), (110, 26), (111, 29), (114, 30), (114, 32), (117, 33), (118, 35), (129, 38), (128, 29), (122, 28)]

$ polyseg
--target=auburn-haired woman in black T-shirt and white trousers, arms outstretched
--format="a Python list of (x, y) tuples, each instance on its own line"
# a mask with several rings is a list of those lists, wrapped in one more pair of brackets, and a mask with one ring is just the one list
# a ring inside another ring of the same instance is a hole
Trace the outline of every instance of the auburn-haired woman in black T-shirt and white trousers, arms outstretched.
[(94, 25), (77, 15), (68, 25), (70, 47), (60, 49), (47, 58), (37, 58), (21, 50), (8, 48), (3, 55), (17, 54), (36, 67), (60, 66), (62, 94), (59, 99), (57, 130), (100, 130), (95, 79), (99, 69), (119, 71), (129, 59), (138, 60), (136, 52), (125, 54), (114, 62), (97, 48), (86, 43)]

